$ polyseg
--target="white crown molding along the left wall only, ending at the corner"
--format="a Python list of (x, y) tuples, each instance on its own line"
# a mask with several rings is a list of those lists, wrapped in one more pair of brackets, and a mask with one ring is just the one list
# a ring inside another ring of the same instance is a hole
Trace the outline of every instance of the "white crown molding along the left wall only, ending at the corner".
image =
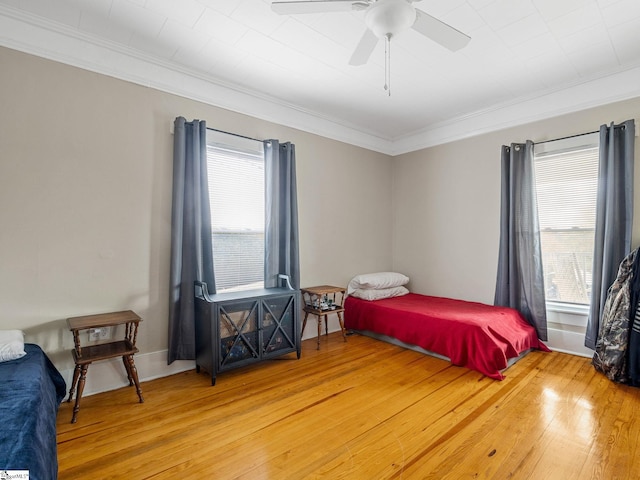
[(57, 22), (0, 5), (0, 46), (390, 154), (391, 142), (336, 118), (223, 83)]

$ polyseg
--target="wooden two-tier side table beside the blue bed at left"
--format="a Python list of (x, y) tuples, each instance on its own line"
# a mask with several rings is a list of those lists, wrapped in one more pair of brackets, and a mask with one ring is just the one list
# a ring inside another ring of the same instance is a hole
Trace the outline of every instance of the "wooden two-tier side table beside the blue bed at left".
[[(73, 407), (73, 417), (71, 423), (76, 423), (78, 411), (80, 410), (80, 398), (84, 390), (84, 384), (87, 379), (87, 370), (92, 362), (99, 360), (107, 360), (109, 358), (122, 357), (124, 368), (127, 371), (129, 385), (135, 385), (138, 392), (140, 403), (144, 402), (140, 382), (138, 381), (138, 371), (133, 362), (133, 355), (138, 353), (136, 348), (136, 337), (138, 335), (138, 323), (142, 319), (131, 310), (123, 312), (102, 313), (99, 315), (86, 315), (83, 317), (73, 317), (67, 319), (69, 330), (73, 333), (73, 343), (75, 348), (71, 351), (73, 361), (76, 366), (73, 370), (73, 381), (69, 390), (70, 402), (73, 398), (73, 392), (78, 386), (76, 395), (76, 404)], [(118, 325), (125, 326), (124, 340), (113, 340), (97, 345), (88, 345), (82, 347), (80, 345), (80, 332), (92, 328), (116, 327)], [(80, 381), (78, 381), (78, 379)]]

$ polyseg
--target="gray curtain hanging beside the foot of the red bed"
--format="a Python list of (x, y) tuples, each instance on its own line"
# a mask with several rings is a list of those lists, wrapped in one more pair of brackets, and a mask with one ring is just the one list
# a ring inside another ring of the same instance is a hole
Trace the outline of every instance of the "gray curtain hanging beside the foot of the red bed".
[(533, 143), (502, 146), (500, 247), (494, 303), (518, 310), (547, 340)]

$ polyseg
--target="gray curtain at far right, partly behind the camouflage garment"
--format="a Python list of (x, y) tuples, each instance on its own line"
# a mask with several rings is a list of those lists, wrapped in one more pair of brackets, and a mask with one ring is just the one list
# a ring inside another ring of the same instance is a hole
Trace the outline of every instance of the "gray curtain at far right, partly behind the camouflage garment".
[(631, 251), (635, 122), (600, 127), (591, 305), (585, 346), (595, 349), (607, 292)]

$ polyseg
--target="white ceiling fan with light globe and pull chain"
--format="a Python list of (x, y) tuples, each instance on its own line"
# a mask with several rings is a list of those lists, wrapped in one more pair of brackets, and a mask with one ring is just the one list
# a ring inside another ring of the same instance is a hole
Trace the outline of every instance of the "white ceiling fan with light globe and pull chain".
[(349, 60), (350, 65), (364, 65), (369, 60), (378, 40), (385, 40), (385, 90), (391, 95), (390, 60), (391, 38), (398, 33), (413, 29), (443, 47), (456, 51), (463, 48), (471, 38), (435, 17), (418, 10), (413, 3), (420, 0), (299, 0), (274, 1), (271, 9), (280, 15), (304, 13), (342, 12), (361, 10), (365, 12), (367, 30), (358, 42)]

